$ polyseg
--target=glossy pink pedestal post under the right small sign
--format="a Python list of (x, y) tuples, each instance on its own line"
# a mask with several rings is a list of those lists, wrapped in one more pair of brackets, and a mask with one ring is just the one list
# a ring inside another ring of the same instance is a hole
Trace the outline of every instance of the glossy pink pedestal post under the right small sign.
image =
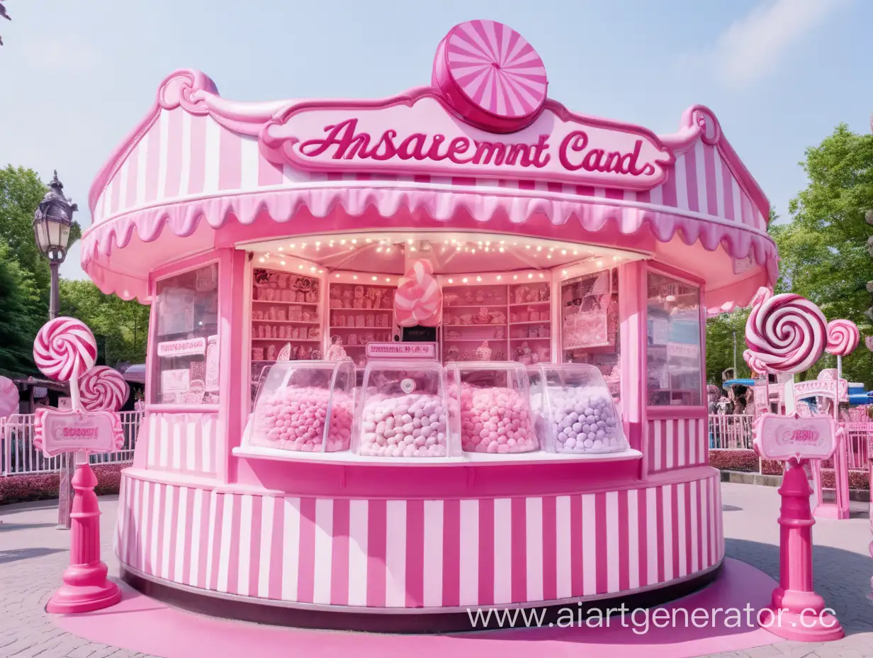
[(815, 519), (809, 509), (812, 489), (801, 462), (788, 461), (779, 494), (779, 587), (773, 590), (770, 607), (760, 613), (761, 626), (786, 640), (839, 640), (844, 634), (840, 622), (825, 612), (824, 599), (813, 590)]

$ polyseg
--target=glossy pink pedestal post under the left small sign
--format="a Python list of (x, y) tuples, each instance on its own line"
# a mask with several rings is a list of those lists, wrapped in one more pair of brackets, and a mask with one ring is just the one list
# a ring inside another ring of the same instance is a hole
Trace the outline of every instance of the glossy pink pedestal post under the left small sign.
[(100, 561), (100, 508), (94, 487), (97, 477), (90, 464), (79, 464), (72, 476), (70, 566), (64, 585), (52, 595), (49, 613), (87, 613), (113, 606), (121, 599), (118, 585), (107, 580), (107, 565)]

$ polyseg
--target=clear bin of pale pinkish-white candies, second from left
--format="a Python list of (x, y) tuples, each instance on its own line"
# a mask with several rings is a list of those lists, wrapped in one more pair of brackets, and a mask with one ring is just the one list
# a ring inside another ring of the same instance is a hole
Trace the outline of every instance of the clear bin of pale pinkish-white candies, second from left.
[(354, 423), (354, 449), (371, 457), (457, 457), (443, 367), (436, 361), (370, 361)]

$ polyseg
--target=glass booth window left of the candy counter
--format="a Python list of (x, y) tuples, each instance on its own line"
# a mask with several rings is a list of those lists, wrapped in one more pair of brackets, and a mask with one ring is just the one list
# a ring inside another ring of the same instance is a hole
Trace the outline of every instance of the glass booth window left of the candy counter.
[(157, 282), (152, 403), (218, 403), (218, 264)]

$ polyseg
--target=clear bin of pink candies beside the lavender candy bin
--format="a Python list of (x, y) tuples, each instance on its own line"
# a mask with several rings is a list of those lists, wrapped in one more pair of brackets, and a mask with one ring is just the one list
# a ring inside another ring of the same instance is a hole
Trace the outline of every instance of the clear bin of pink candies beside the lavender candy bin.
[(527, 453), (533, 430), (526, 366), (497, 361), (449, 364), (446, 381), (452, 433), (466, 453)]

